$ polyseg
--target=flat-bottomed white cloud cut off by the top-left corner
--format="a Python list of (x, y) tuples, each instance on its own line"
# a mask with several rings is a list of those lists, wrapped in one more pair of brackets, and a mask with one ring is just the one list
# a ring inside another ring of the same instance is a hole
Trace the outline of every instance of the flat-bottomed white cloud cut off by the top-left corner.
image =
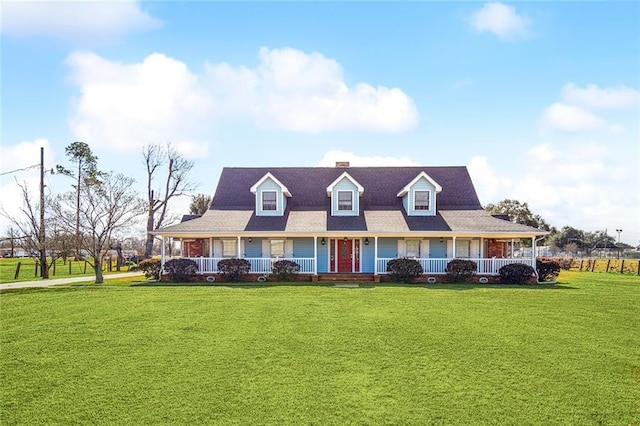
[(105, 40), (133, 30), (157, 28), (161, 22), (137, 1), (2, 2), (2, 32), (17, 37)]

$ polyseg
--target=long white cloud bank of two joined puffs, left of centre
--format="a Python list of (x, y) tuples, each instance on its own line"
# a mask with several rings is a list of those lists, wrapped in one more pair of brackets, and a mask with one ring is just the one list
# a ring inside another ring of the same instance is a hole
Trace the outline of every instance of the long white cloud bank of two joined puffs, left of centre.
[(186, 152), (206, 153), (206, 130), (215, 123), (317, 133), (399, 132), (418, 123), (413, 101), (400, 89), (358, 83), (320, 53), (260, 50), (254, 68), (206, 65), (198, 75), (160, 53), (122, 64), (91, 52), (68, 58), (79, 87), (69, 125), (77, 139), (120, 151), (172, 141)]

